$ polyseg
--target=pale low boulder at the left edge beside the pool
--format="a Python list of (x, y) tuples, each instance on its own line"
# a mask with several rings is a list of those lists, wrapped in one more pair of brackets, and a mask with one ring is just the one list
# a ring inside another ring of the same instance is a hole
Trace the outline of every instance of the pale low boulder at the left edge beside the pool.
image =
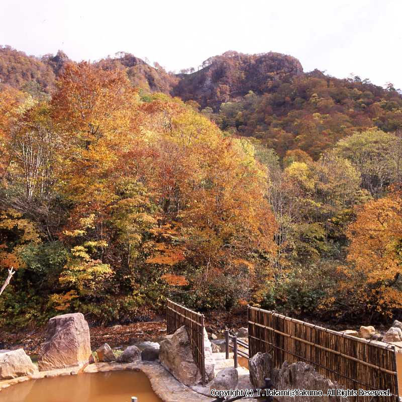
[(23, 349), (0, 353), (0, 380), (33, 375), (38, 368)]

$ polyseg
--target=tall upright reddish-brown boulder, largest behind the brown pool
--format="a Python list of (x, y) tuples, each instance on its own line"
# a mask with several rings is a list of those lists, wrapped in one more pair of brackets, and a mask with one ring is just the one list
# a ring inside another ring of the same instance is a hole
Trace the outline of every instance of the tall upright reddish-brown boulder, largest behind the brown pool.
[(88, 323), (81, 313), (49, 320), (46, 340), (38, 357), (39, 370), (81, 366), (91, 355)]

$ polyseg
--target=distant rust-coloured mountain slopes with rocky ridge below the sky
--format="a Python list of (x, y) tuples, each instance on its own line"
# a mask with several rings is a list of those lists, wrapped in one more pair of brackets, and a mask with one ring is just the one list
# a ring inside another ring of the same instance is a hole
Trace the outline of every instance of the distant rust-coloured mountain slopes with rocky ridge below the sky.
[[(49, 96), (71, 62), (62, 51), (39, 59), (0, 47), (0, 87), (6, 84)], [(131, 84), (145, 93), (164, 92), (191, 102), (222, 130), (256, 137), (280, 157), (301, 149), (317, 159), (355, 131), (402, 129), (402, 97), (392, 85), (384, 89), (358, 76), (339, 79), (319, 70), (305, 73), (296, 58), (280, 53), (229, 51), (187, 74), (166, 72), (157, 63), (154, 68), (124, 52), (93, 64), (125, 71)]]

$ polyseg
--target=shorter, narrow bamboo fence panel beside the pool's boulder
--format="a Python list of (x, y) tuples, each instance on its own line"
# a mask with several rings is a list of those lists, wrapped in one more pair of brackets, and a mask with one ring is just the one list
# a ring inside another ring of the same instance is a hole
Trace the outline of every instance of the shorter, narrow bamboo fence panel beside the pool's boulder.
[(192, 357), (206, 383), (205, 351), (204, 351), (204, 315), (189, 310), (177, 303), (167, 300), (166, 306), (167, 333), (173, 334), (181, 326), (185, 326)]

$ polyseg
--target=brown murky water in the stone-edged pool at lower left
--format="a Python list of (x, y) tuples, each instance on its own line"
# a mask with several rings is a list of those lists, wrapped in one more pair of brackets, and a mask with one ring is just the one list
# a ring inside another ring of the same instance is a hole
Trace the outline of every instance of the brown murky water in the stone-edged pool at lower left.
[(83, 373), (30, 380), (0, 391), (0, 402), (162, 402), (140, 371)]

